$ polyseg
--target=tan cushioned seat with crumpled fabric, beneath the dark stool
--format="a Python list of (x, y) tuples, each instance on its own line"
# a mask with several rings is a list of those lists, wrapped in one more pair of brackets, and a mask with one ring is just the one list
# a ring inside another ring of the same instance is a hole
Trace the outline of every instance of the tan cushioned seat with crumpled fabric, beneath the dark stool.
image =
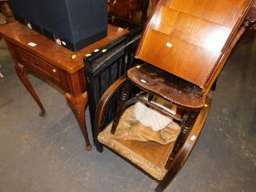
[(123, 155), (156, 179), (161, 180), (165, 176), (165, 164), (180, 133), (177, 123), (170, 123), (165, 129), (155, 132), (134, 118), (131, 106), (123, 112), (114, 134), (110, 133), (111, 127), (112, 123), (98, 135), (102, 144)]

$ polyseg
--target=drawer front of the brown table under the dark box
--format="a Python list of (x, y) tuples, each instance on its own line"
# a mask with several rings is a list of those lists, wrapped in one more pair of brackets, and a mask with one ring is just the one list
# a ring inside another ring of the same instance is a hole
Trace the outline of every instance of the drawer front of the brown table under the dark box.
[(28, 68), (37, 68), (37, 70), (39, 70), (41, 73), (44, 73), (44, 75), (47, 75), (55, 80), (59, 80), (59, 69), (50, 65), (43, 59), (37, 58), (27, 50), (17, 48), (17, 58), (20, 59), (21, 63), (29, 65), (27, 66)]

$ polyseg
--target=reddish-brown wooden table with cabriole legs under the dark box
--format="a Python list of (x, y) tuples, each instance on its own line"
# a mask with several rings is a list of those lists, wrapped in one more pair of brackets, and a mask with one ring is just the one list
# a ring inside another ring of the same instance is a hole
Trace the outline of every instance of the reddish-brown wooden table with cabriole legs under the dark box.
[(85, 123), (85, 108), (88, 104), (88, 96), (83, 57), (125, 33), (127, 33), (127, 30), (109, 25), (107, 37), (82, 48), (78, 52), (72, 52), (18, 22), (0, 26), (0, 36), (4, 37), (15, 59), (16, 72), (27, 90), (37, 101), (41, 110), (40, 115), (45, 114), (45, 109), (27, 78), (27, 71), (34, 71), (38, 76), (50, 80), (66, 92), (66, 99), (80, 125), (87, 150), (91, 149), (91, 144)]

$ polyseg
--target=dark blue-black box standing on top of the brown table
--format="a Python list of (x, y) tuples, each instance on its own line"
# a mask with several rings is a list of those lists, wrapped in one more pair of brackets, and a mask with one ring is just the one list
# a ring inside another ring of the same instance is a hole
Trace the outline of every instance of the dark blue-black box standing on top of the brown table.
[(106, 0), (11, 0), (11, 2), (13, 11), (19, 17), (25, 18), (25, 10), (33, 9), (29, 10), (27, 15), (38, 17), (35, 23), (42, 29), (42, 33), (73, 51), (107, 35)]

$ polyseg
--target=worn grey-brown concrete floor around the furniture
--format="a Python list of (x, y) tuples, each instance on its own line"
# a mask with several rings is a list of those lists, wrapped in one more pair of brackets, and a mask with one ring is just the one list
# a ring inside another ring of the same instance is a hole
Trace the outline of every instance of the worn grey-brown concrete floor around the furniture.
[[(256, 38), (252, 35), (241, 40), (222, 70), (196, 147), (166, 192), (256, 191)], [(154, 191), (154, 180), (109, 150), (99, 154), (93, 147), (86, 152), (63, 92), (32, 74), (29, 79), (47, 110), (40, 117), (3, 40), (0, 65), (5, 75), (0, 79), (1, 192)], [(85, 115), (90, 130), (89, 112)]]

